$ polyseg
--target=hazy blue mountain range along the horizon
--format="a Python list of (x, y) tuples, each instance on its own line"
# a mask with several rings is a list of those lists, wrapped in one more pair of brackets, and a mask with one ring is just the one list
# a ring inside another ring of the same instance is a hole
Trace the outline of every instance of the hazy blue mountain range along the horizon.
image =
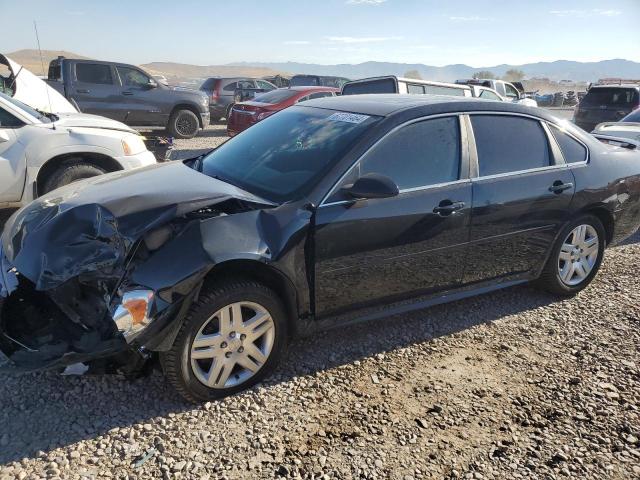
[(291, 73), (309, 73), (315, 75), (335, 75), (347, 78), (374, 77), (378, 75), (404, 75), (409, 70), (417, 70), (422, 78), (440, 81), (453, 81), (458, 78), (470, 78), (475, 72), (488, 70), (503, 76), (508, 70), (522, 70), (527, 78), (546, 77), (551, 80), (573, 80), (592, 82), (605, 77), (640, 78), (640, 63), (615, 59), (600, 62), (573, 62), (558, 60), (555, 62), (527, 63), (523, 65), (495, 65), (492, 67), (470, 67), (469, 65), (447, 65), (433, 67), (421, 63), (365, 62), (356, 65), (318, 65), (312, 63), (233, 63), (234, 66), (253, 66)]

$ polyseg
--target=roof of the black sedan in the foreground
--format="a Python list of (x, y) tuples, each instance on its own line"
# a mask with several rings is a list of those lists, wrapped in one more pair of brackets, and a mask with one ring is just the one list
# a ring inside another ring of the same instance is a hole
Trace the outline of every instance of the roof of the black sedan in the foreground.
[(433, 110), (433, 113), (468, 110), (506, 111), (535, 113), (539, 117), (549, 117), (549, 114), (542, 109), (515, 103), (449, 95), (405, 95), (398, 93), (342, 95), (308, 100), (304, 102), (304, 105), (378, 116), (389, 116), (400, 111), (421, 109)]

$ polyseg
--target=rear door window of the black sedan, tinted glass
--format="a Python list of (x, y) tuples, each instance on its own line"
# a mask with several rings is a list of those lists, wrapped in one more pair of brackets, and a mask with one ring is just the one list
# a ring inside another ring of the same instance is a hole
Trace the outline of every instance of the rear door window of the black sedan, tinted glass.
[(472, 115), (480, 176), (518, 172), (551, 164), (540, 122), (508, 115)]

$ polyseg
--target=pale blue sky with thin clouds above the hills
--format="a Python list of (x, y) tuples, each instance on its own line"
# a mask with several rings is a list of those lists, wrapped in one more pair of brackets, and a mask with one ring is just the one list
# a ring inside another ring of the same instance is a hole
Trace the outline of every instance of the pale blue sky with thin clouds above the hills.
[[(126, 63), (640, 62), (640, 0), (0, 0), (2, 53)], [(10, 21), (9, 21), (10, 19)]]

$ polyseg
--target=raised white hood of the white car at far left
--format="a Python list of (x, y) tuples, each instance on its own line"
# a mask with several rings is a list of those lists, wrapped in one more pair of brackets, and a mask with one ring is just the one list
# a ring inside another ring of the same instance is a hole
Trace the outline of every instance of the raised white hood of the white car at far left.
[(76, 108), (56, 89), (36, 77), (9, 57), (0, 54), (0, 64), (6, 65), (14, 79), (13, 98), (36, 110), (48, 113), (73, 113)]

